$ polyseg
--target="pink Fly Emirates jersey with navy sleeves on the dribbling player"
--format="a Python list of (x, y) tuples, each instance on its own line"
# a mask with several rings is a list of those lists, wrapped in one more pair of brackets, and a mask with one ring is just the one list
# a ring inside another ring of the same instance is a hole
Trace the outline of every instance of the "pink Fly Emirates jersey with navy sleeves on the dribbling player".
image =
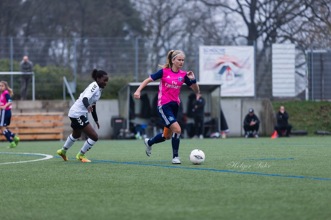
[(179, 105), (179, 92), (183, 83), (185, 82), (189, 87), (193, 85), (185, 71), (179, 70), (178, 73), (174, 73), (171, 68), (159, 70), (157, 73), (150, 75), (150, 78), (153, 81), (160, 79), (158, 106), (171, 101), (175, 101)]

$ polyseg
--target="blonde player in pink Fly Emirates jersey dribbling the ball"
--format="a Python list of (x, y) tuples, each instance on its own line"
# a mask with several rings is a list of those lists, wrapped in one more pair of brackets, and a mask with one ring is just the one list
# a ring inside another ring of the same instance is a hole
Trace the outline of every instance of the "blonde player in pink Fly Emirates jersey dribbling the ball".
[(144, 140), (146, 145), (146, 154), (151, 156), (152, 145), (169, 140), (171, 137), (172, 145), (172, 163), (180, 164), (178, 157), (179, 138), (181, 129), (176, 120), (179, 107), (179, 92), (180, 88), (185, 83), (195, 92), (199, 92), (199, 85), (192, 71), (185, 72), (180, 70), (184, 63), (185, 54), (181, 50), (170, 50), (167, 55), (166, 64), (159, 65), (161, 70), (150, 75), (145, 79), (137, 91), (134, 93), (134, 98), (140, 98), (140, 91), (150, 82), (160, 79), (159, 95), (158, 95), (158, 114), (165, 124), (163, 133), (157, 134), (155, 137)]

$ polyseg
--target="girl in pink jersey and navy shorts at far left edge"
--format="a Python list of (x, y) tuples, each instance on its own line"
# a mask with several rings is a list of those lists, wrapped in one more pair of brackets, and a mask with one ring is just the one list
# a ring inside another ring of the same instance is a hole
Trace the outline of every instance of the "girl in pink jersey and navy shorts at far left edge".
[(12, 118), (12, 99), (11, 96), (14, 95), (13, 90), (9, 88), (6, 81), (0, 81), (0, 101), (1, 101), (1, 119), (0, 119), (0, 129), (2, 134), (10, 142), (7, 148), (16, 147), (19, 144), (20, 138), (15, 136), (11, 131), (7, 129), (10, 124), (10, 119)]

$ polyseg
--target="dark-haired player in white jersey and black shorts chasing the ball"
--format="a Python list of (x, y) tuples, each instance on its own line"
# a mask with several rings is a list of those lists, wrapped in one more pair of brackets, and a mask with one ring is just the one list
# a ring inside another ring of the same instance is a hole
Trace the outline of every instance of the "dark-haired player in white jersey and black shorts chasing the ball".
[(80, 137), (82, 132), (84, 132), (89, 138), (85, 141), (83, 147), (76, 155), (77, 160), (81, 162), (91, 162), (86, 158), (85, 153), (98, 141), (98, 134), (93, 129), (92, 125), (90, 125), (90, 122), (86, 118), (86, 114), (87, 112), (92, 113), (92, 117), (99, 129), (100, 125), (95, 103), (100, 99), (101, 91), (107, 85), (108, 74), (103, 70), (98, 71), (94, 69), (91, 76), (95, 81), (87, 86), (69, 110), (68, 116), (71, 120), (72, 134), (69, 135), (63, 148), (57, 151), (65, 161), (68, 161), (67, 150)]

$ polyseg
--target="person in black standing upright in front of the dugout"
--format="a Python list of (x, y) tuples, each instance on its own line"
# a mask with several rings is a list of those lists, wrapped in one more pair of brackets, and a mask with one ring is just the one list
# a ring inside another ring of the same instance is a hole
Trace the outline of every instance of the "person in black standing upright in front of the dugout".
[(205, 99), (201, 96), (201, 91), (196, 93), (196, 99), (193, 100), (193, 118), (195, 124), (195, 136), (193, 138), (204, 138), (204, 116), (205, 116)]

